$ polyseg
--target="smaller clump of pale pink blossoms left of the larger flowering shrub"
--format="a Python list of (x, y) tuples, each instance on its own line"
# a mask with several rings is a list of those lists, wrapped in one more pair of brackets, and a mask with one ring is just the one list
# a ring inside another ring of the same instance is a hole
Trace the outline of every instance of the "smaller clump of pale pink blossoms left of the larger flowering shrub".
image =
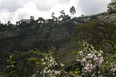
[[(43, 77), (56, 77), (61, 74), (61, 70), (57, 70), (58, 63), (52, 57), (52, 54), (44, 54), (44, 58), (42, 59), (43, 70), (40, 72)], [(62, 64), (61, 64), (62, 65)]]

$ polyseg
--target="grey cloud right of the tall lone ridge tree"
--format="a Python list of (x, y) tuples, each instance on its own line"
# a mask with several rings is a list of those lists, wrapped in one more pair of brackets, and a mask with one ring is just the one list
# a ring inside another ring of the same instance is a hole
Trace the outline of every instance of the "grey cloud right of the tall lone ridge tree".
[(96, 14), (105, 12), (109, 2), (110, 0), (79, 0), (77, 7), (83, 14)]

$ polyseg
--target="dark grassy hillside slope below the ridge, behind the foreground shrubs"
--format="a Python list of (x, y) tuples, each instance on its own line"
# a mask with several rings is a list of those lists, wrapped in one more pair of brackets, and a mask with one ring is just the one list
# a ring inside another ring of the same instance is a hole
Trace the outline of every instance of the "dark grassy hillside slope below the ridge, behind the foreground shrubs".
[[(73, 51), (80, 49), (80, 45), (73, 39), (75, 28), (87, 20), (100, 19), (110, 21), (116, 19), (116, 13), (100, 13), (66, 19), (60, 22), (32, 23), (16, 26), (14, 30), (0, 31), (0, 69), (6, 62), (8, 55), (18, 51), (35, 50), (47, 51), (49, 47), (56, 48), (57, 58), (64, 64), (75, 60)], [(70, 57), (69, 57), (70, 56)]]

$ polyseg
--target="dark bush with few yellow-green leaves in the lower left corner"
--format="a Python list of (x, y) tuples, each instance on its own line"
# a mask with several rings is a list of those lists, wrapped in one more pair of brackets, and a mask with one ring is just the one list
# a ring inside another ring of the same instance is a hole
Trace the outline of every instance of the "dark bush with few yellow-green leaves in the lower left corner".
[(15, 52), (7, 60), (8, 77), (29, 77), (35, 70), (35, 62), (29, 61), (29, 53)]

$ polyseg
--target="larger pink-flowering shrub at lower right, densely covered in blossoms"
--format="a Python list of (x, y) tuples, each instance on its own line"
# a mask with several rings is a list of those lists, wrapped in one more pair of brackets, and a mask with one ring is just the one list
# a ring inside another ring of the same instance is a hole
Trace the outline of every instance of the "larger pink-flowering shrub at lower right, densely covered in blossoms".
[[(84, 49), (78, 51), (77, 61), (83, 66), (82, 77), (114, 77), (116, 75), (116, 64), (105, 61), (102, 51), (97, 51), (86, 42)], [(108, 66), (106, 66), (108, 65)]]

